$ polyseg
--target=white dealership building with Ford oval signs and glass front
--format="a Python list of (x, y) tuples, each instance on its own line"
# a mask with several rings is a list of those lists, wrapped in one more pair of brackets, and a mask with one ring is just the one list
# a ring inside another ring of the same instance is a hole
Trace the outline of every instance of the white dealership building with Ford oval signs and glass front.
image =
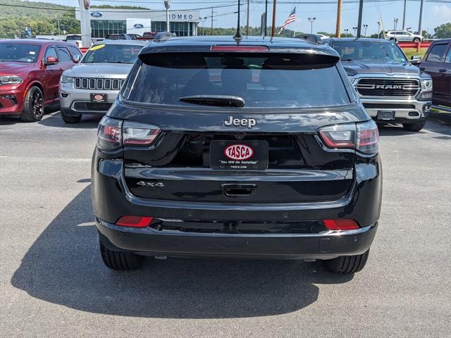
[[(80, 10), (75, 11), (75, 18), (80, 20)], [(166, 11), (89, 8), (89, 18), (91, 37), (166, 31)], [(199, 21), (199, 11), (169, 11), (169, 27), (178, 37), (197, 35)]]

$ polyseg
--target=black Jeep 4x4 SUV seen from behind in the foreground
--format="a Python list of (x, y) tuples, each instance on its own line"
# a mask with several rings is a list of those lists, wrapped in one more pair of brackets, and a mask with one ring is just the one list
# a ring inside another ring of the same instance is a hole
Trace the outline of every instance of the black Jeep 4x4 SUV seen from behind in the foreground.
[(378, 129), (339, 60), (300, 39), (145, 46), (92, 161), (104, 263), (321, 259), (335, 273), (362, 270), (381, 209)]

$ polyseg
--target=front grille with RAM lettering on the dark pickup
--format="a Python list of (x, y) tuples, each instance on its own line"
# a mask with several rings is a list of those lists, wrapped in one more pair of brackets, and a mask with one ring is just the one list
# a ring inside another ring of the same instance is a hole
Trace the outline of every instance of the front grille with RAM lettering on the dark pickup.
[(420, 91), (418, 80), (360, 79), (356, 86), (362, 96), (416, 96)]

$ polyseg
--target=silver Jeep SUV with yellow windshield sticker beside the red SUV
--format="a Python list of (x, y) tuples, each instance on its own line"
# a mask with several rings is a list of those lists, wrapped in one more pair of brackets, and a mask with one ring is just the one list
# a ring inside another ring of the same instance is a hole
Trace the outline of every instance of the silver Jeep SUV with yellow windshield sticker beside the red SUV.
[(147, 42), (102, 40), (80, 63), (61, 75), (59, 95), (65, 123), (79, 123), (82, 114), (104, 114)]

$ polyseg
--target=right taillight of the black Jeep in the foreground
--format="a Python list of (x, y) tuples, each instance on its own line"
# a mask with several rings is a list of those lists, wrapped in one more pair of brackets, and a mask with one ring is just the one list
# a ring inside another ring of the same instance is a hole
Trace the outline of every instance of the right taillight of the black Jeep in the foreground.
[(355, 149), (361, 154), (378, 152), (379, 132), (371, 120), (364, 123), (330, 125), (319, 130), (321, 140), (330, 149)]

